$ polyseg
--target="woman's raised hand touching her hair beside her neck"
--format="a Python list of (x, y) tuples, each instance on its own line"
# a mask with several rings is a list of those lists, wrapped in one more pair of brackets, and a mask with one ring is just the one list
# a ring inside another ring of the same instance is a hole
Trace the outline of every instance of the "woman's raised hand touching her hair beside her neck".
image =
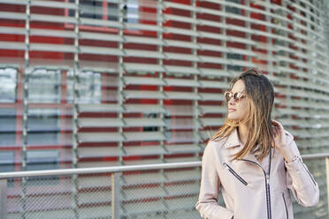
[(286, 162), (292, 162), (292, 148), (287, 144), (287, 135), (283, 126), (275, 120), (272, 120), (272, 127), (274, 132), (274, 147), (279, 150), (279, 153), (283, 155)]

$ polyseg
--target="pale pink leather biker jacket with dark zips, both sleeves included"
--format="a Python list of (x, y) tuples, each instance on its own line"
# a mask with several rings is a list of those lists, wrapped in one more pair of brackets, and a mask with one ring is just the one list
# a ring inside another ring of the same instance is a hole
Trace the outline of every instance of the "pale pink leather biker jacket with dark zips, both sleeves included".
[[(207, 219), (293, 219), (293, 205), (288, 189), (304, 207), (318, 205), (318, 183), (300, 158), (294, 137), (287, 135), (285, 162), (278, 150), (272, 149), (262, 163), (249, 154), (231, 162), (230, 155), (241, 150), (235, 129), (223, 140), (209, 141), (204, 149), (199, 200), (195, 208)], [(218, 204), (222, 193), (226, 207)]]

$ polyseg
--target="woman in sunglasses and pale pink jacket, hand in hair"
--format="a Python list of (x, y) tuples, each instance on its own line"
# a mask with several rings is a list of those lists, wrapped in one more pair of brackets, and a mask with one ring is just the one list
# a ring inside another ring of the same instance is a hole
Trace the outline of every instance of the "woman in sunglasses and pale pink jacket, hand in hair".
[[(318, 205), (318, 184), (293, 136), (271, 120), (274, 91), (264, 74), (242, 72), (225, 93), (226, 123), (203, 153), (199, 200), (208, 219), (294, 218), (288, 189), (299, 204)], [(226, 207), (218, 204), (218, 190)]]

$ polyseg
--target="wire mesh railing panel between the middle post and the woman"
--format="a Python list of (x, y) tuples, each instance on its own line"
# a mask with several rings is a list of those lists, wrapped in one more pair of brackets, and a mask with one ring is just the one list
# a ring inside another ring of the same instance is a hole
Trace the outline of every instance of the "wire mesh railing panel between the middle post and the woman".
[(199, 169), (124, 174), (120, 218), (201, 218), (195, 210), (199, 174)]

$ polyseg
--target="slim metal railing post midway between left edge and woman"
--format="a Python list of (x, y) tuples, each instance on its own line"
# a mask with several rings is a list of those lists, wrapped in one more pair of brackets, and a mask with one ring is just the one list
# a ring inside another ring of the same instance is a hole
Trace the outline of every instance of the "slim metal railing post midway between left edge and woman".
[(111, 199), (111, 219), (119, 219), (120, 214), (120, 176), (119, 172), (112, 173), (112, 199)]

